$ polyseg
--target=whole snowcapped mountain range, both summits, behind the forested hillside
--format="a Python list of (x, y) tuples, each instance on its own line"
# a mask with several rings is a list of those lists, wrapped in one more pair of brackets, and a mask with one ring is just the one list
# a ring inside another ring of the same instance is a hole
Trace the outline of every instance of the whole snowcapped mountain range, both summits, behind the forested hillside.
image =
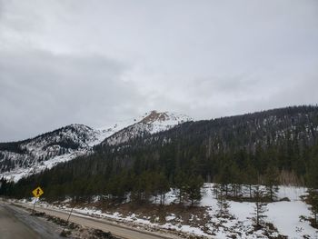
[(96, 144), (124, 143), (130, 138), (164, 131), (189, 120), (191, 118), (185, 115), (152, 111), (110, 127), (94, 129), (84, 124), (70, 124), (32, 139), (0, 143), (0, 178), (18, 181), (25, 175), (91, 154)]

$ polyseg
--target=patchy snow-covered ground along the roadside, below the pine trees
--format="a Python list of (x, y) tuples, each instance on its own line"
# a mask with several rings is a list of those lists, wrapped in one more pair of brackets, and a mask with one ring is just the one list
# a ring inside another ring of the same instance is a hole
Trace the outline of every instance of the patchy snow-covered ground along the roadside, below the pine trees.
[[(318, 238), (318, 230), (314, 229), (308, 221), (302, 220), (300, 217), (311, 216), (309, 205), (303, 203), (301, 196), (306, 194), (306, 188), (293, 186), (280, 186), (278, 199), (289, 198), (290, 201), (281, 201), (267, 204), (268, 211), (265, 213), (267, 217), (264, 219), (266, 223), (271, 223), (276, 229), (258, 230), (253, 228), (253, 212), (254, 204), (248, 202), (229, 201), (230, 217), (221, 218), (217, 216), (218, 207), (214, 194), (214, 184), (204, 184), (202, 192), (204, 194), (200, 204), (204, 208), (205, 214), (201, 217), (198, 214), (190, 214), (187, 223), (180, 215), (171, 213), (165, 215), (164, 222), (159, 222), (157, 218), (151, 220), (151, 216), (130, 212), (129, 214), (121, 214), (119, 212), (102, 212), (98, 208), (84, 207), (75, 208), (77, 214), (92, 215), (124, 222), (134, 225), (144, 225), (146, 227), (163, 228), (183, 232), (185, 234), (201, 235), (204, 238), (275, 238), (278, 235), (285, 235), (287, 238)], [(176, 202), (175, 192), (171, 190), (166, 194), (165, 204)], [(98, 197), (94, 201), (98, 201)], [(24, 203), (27, 203), (25, 200)], [(31, 204), (32, 202), (29, 202)], [(68, 201), (60, 204), (57, 208), (69, 210)], [(45, 204), (52, 207), (52, 204)], [(199, 209), (198, 209), (199, 211)], [(204, 221), (204, 225), (192, 224), (191, 222)], [(236, 237), (234, 237), (236, 236)], [(270, 237), (272, 236), (272, 237)]]

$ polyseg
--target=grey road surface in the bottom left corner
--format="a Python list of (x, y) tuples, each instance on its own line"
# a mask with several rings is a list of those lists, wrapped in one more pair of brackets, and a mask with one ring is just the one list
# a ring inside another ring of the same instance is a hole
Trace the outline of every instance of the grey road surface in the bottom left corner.
[(57, 239), (56, 228), (25, 210), (0, 202), (0, 239)]

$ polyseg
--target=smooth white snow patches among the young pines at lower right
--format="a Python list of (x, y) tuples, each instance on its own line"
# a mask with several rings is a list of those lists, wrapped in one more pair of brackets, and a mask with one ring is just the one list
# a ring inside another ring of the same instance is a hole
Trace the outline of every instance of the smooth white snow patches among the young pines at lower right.
[[(210, 214), (215, 216), (217, 211), (216, 199), (213, 192), (213, 184), (204, 184), (204, 198), (201, 205), (210, 207)], [(311, 212), (309, 205), (305, 204), (301, 196), (306, 194), (306, 188), (294, 186), (280, 186), (277, 199), (288, 198), (288, 201), (274, 202), (267, 204), (268, 211), (265, 213), (265, 222), (272, 223), (279, 234), (288, 238), (318, 238), (318, 230), (314, 229), (309, 222), (301, 220), (301, 216), (309, 217)], [(262, 234), (246, 234), (253, 229), (254, 204), (248, 202), (229, 202), (229, 213), (234, 216), (234, 220), (224, 220), (226, 228), (234, 227), (233, 230), (241, 234), (241, 238), (267, 238)], [(222, 229), (222, 228), (221, 228)], [(220, 230), (217, 238), (226, 238), (227, 232)], [(274, 234), (273, 234), (274, 236)]]

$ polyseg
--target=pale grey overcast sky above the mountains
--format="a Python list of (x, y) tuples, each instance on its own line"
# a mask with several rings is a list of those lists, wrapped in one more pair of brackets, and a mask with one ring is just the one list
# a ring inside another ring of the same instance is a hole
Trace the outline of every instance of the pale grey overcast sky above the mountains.
[(316, 0), (0, 0), (1, 142), (317, 103)]

